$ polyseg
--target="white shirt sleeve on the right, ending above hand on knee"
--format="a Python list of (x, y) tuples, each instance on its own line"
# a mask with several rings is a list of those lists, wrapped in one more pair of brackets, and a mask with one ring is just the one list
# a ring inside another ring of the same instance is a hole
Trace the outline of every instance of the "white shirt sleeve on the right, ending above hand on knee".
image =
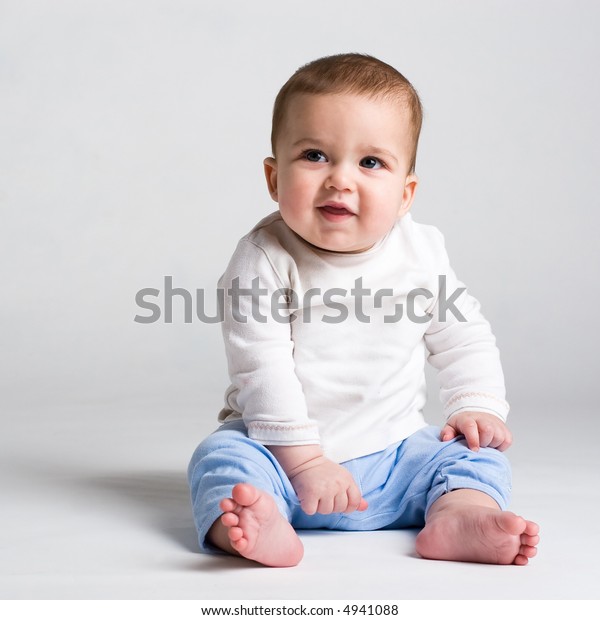
[(438, 370), (444, 414), (483, 411), (506, 420), (509, 405), (496, 339), (479, 302), (451, 269), (445, 249), (442, 256), (425, 343), (428, 361)]

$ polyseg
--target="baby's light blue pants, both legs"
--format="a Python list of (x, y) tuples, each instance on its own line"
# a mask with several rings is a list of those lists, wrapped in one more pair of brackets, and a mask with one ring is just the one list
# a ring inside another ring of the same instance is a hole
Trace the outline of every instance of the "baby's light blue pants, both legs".
[(200, 548), (220, 517), (219, 502), (231, 497), (239, 482), (249, 482), (273, 496), (281, 514), (296, 529), (377, 530), (423, 527), (429, 507), (444, 493), (475, 489), (502, 509), (511, 489), (510, 466), (493, 448), (473, 452), (464, 439), (439, 440), (433, 426), (417, 431), (382, 452), (342, 465), (350, 471), (369, 507), (350, 514), (307, 515), (285, 472), (263, 445), (248, 438), (241, 420), (224, 424), (196, 449), (188, 468), (194, 521)]

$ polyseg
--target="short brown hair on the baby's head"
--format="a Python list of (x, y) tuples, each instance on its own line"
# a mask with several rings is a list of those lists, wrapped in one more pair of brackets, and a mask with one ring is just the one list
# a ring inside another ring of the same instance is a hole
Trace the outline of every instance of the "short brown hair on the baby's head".
[(297, 94), (353, 94), (400, 100), (410, 113), (413, 139), (410, 172), (414, 172), (423, 108), (413, 85), (394, 67), (367, 54), (325, 56), (300, 67), (275, 98), (271, 129), (273, 156), (287, 107)]

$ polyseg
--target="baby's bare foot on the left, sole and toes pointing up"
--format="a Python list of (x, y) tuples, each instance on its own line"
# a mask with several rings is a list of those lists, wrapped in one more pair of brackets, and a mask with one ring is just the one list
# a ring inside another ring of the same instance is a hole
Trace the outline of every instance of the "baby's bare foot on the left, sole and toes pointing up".
[(268, 493), (251, 484), (237, 484), (220, 507), (224, 514), (211, 528), (211, 538), (218, 546), (224, 546), (218, 540), (225, 539), (225, 529), (226, 544), (231, 547), (225, 550), (249, 560), (284, 567), (296, 566), (302, 559), (302, 542)]

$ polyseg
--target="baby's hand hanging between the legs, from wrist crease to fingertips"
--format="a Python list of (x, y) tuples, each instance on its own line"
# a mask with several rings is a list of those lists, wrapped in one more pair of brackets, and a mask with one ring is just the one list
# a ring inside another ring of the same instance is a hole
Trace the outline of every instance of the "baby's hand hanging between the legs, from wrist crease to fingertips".
[(307, 463), (306, 469), (290, 477), (290, 482), (307, 515), (349, 513), (368, 507), (350, 472), (324, 456)]

